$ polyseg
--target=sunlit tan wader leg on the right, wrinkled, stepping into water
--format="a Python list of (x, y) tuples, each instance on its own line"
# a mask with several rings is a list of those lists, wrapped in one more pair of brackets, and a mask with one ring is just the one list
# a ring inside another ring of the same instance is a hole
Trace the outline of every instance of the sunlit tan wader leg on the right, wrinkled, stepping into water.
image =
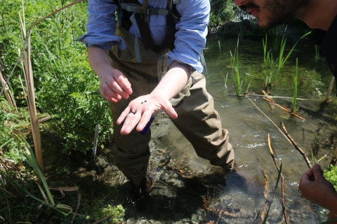
[(206, 80), (201, 73), (194, 72), (192, 76), (195, 80), (191, 95), (178, 106), (178, 118), (172, 122), (190, 141), (199, 157), (223, 169), (233, 169), (234, 150), (228, 141), (229, 133), (222, 128), (213, 97), (206, 92)]

